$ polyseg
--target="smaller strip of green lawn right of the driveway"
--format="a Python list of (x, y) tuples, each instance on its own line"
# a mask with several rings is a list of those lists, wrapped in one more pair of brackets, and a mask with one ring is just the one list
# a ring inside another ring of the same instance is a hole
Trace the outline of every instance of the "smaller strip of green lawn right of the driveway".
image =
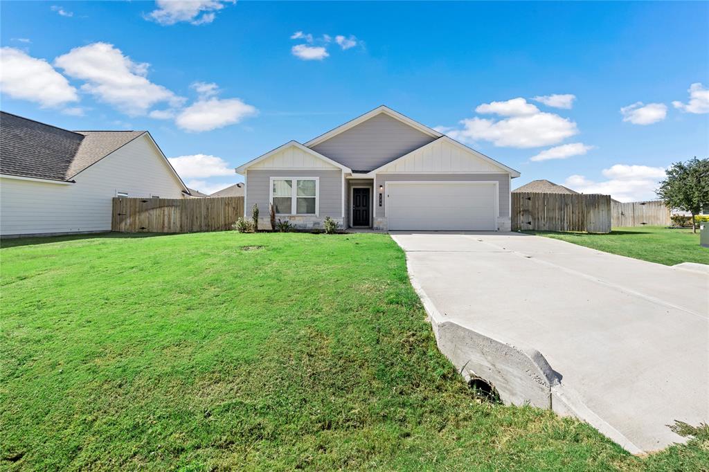
[(693, 234), (692, 230), (644, 226), (617, 227), (608, 235), (585, 232), (525, 232), (667, 266), (681, 262), (709, 264), (709, 249), (699, 245), (699, 230)]

